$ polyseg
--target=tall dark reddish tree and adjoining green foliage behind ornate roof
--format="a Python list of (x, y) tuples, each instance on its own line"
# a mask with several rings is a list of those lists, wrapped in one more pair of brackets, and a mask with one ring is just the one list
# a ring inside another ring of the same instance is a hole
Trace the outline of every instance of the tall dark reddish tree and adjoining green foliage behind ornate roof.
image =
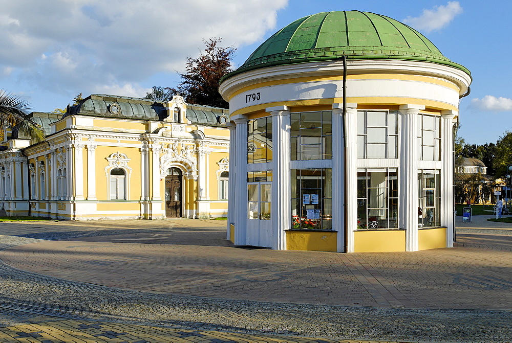
[[(228, 108), (228, 103), (219, 94), (219, 81), (221, 77), (231, 72), (231, 59), (236, 51), (233, 47), (219, 47), (222, 38), (203, 40), (206, 48), (198, 58), (188, 56), (185, 64), (186, 73), (180, 74), (182, 81), (177, 88), (153, 87), (153, 92), (146, 95), (146, 99), (158, 96), (160, 90), (166, 94), (181, 94), (190, 104), (207, 105)], [(158, 91), (156, 95), (155, 89)], [(173, 95), (174, 95), (173, 94)], [(165, 98), (164, 97), (164, 98)], [(167, 101), (168, 99), (158, 99)]]

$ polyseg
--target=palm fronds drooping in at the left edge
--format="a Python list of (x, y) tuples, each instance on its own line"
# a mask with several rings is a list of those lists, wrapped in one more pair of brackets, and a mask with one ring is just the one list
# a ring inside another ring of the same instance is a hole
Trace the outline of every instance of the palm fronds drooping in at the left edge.
[(41, 127), (30, 117), (30, 106), (20, 97), (0, 89), (0, 128), (16, 127), (35, 142), (45, 139)]

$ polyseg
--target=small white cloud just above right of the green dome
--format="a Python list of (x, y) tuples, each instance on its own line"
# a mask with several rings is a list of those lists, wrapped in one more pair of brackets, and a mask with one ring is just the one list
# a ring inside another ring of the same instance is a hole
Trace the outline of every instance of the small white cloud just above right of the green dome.
[(403, 19), (403, 22), (416, 30), (429, 33), (446, 27), (460, 13), (462, 13), (462, 7), (459, 2), (449, 1), (445, 6), (434, 6), (430, 10), (423, 9), (419, 17), (408, 16)]

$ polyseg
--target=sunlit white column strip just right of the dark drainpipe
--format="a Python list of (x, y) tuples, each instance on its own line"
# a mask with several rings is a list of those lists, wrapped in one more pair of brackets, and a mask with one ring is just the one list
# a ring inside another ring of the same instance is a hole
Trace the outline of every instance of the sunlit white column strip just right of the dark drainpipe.
[[(345, 156), (344, 172), (347, 173), (346, 182), (344, 185), (346, 188), (345, 195), (347, 196), (342, 199), (345, 199), (345, 206), (347, 207), (347, 218), (345, 218), (345, 227), (343, 230), (347, 230), (347, 253), (354, 252), (354, 230), (357, 229), (357, 104), (356, 103), (347, 103), (346, 113), (345, 113), (345, 130), (344, 139), (347, 144), (347, 156)], [(333, 135), (334, 137), (334, 135)], [(333, 145), (334, 149), (334, 145)], [(338, 149), (342, 150), (343, 145)], [(333, 156), (335, 155), (335, 151), (333, 151)], [(334, 179), (339, 178), (343, 180), (343, 173), (335, 176), (334, 172), (332, 173), (332, 177)], [(343, 182), (343, 181), (342, 181)], [(334, 185), (333, 185), (334, 188)], [(343, 191), (343, 186), (341, 187)], [(334, 194), (333, 194), (334, 197)], [(333, 199), (334, 200), (334, 199)], [(338, 211), (343, 211), (343, 208)], [(334, 217), (334, 214), (333, 214)], [(338, 236), (343, 236), (344, 232), (338, 232)], [(338, 244), (339, 242), (338, 237)], [(343, 241), (343, 237), (341, 238)], [(338, 245), (338, 251), (343, 249)], [(343, 251), (343, 250), (342, 250)]]

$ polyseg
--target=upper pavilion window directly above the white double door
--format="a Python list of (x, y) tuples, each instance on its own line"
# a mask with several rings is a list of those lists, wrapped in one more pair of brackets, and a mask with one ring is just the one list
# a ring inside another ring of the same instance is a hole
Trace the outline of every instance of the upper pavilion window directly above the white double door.
[(272, 162), (272, 117), (247, 121), (247, 163)]

